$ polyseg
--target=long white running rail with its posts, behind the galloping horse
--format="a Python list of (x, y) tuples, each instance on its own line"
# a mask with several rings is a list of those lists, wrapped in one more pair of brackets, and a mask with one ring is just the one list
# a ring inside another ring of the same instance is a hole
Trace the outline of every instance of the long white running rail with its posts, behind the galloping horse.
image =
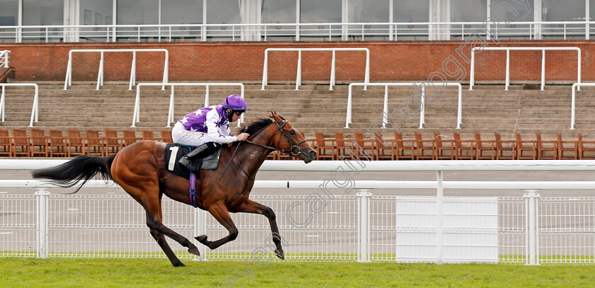
[[(66, 160), (54, 159), (2, 159), (0, 160), (0, 169), (33, 169), (47, 168)], [(346, 171), (342, 165), (348, 165), (348, 161), (313, 161), (305, 164), (299, 161), (265, 161), (261, 170), (263, 171), (327, 171), (336, 173), (337, 171)], [(353, 162), (353, 161), (352, 161)], [(539, 189), (587, 189), (591, 190), (594, 181), (443, 181), (443, 171), (595, 171), (595, 161), (575, 160), (575, 161), (370, 161), (366, 162), (361, 171), (436, 171), (436, 181), (379, 181), (379, 180), (352, 180), (353, 185), (345, 185), (343, 181), (337, 183), (329, 180), (271, 180), (255, 181), (255, 188), (352, 188), (359, 189), (356, 198), (358, 198), (358, 213), (361, 221), (358, 221), (358, 260), (361, 262), (370, 261), (370, 217), (368, 207), (370, 207), (370, 188), (431, 188), (436, 189), (436, 263), (443, 263), (445, 258), (443, 248), (445, 235), (445, 215), (444, 195), (445, 188), (450, 189), (518, 189), (531, 190), (525, 195), (527, 198), (526, 211), (526, 263), (535, 265), (539, 263), (539, 237), (540, 229), (536, 224), (539, 217), (537, 213), (537, 199), (539, 195), (535, 192)], [(358, 171), (354, 171), (358, 172)], [(332, 178), (332, 175), (329, 175)], [(91, 180), (86, 187), (106, 187), (113, 183), (106, 183), (102, 180)], [(38, 180), (2, 180), (0, 187), (31, 187), (38, 188), (35, 193), (40, 202), (47, 203), (49, 192), (45, 188), (49, 187), (47, 183)], [(322, 192), (322, 190), (320, 191)], [(345, 191), (344, 191), (345, 192)], [(115, 196), (115, 195), (113, 195)], [(335, 200), (337, 201), (337, 200)], [(39, 207), (39, 206), (38, 206)], [(365, 208), (365, 209), (363, 209)], [(38, 212), (43, 217), (45, 210)], [(45, 241), (45, 225), (47, 219), (40, 221), (38, 229), (38, 257), (45, 258), (47, 241)], [(205, 224), (198, 226), (203, 227)], [(367, 233), (365, 233), (367, 232)]]

